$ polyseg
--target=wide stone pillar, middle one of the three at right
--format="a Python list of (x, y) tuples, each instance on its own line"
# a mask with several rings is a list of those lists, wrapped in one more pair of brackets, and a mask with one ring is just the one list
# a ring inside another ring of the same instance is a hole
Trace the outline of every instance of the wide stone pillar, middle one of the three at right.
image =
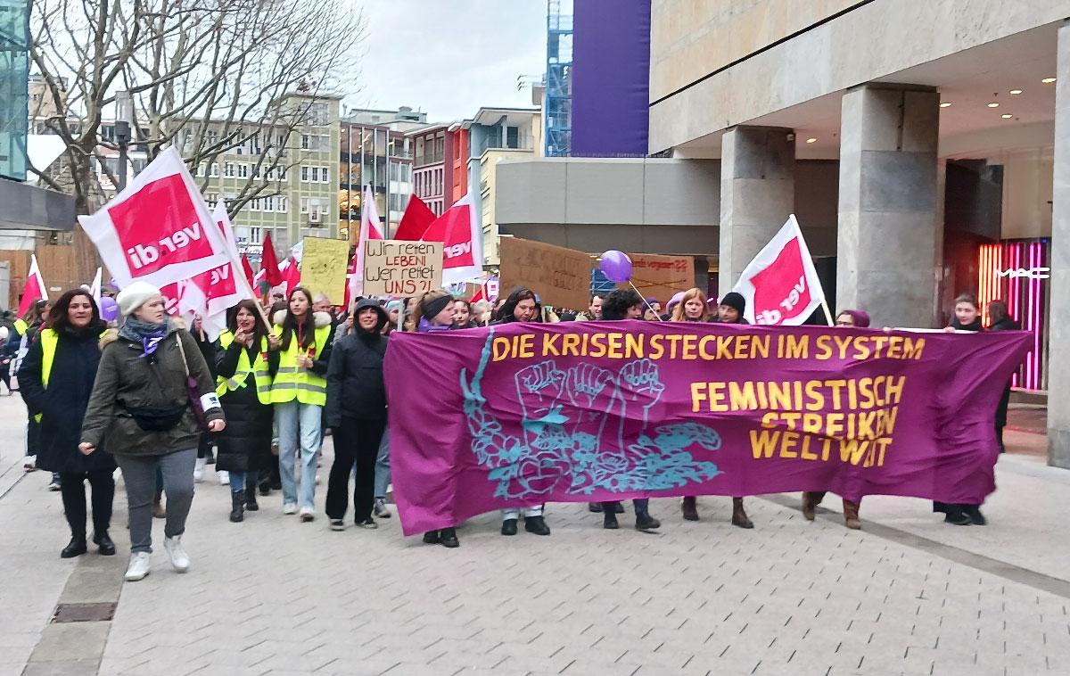
[(875, 326), (930, 328), (938, 219), (939, 94), (865, 84), (843, 95), (836, 303)]

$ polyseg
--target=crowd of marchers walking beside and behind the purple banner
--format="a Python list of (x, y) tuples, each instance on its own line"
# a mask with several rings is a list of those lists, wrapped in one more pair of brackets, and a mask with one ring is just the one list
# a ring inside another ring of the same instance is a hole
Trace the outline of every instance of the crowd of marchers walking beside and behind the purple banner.
[[(654, 298), (618, 289), (593, 296), (578, 316), (542, 308), (536, 293), (524, 288), (494, 306), (438, 290), (403, 302), (362, 298), (351, 311), (335, 316), (325, 295), (314, 297), (297, 287), (288, 297), (275, 294), (272, 303), (242, 301), (228, 312), (227, 329), (209, 340), (199, 321), (187, 327), (169, 317), (159, 290), (148, 283), (134, 282), (116, 299), (122, 317), (110, 326), (85, 289), (39, 302), (27, 317), (0, 326), (0, 371), (9, 394), (15, 385), (9, 375), (17, 377), (29, 411), (26, 468), (52, 472), (52, 485), (61, 493), (71, 528), (62, 557), (86, 553), (89, 541), (101, 554), (116, 553), (109, 527), (114, 471), (121, 470), (131, 538), (127, 581), (150, 572), (154, 518), (165, 520), (164, 547), (172, 567), (180, 572), (189, 568), (182, 536), (195, 482), (213, 456), (220, 482), (229, 485), (230, 521), (242, 522), (246, 511), (258, 510), (258, 493), (281, 491), (282, 512), (311, 522), (320, 448), (330, 430), (334, 463), (324, 502), (330, 527), (346, 527), (350, 491), (356, 526), (376, 528), (376, 518), (389, 518), (383, 359), (393, 331), (437, 333), (542, 321), (747, 321), (742, 295), (728, 293), (714, 304), (699, 289), (677, 293), (663, 309)], [(990, 331), (1017, 328), (1005, 304), (995, 302), (989, 311)], [(844, 310), (836, 318), (838, 327), (869, 325), (861, 310)], [(973, 296), (956, 302), (947, 331), (957, 329), (982, 329)], [(1000, 451), (1008, 397), (1009, 386), (996, 414)], [(806, 519), (813, 520), (823, 496), (804, 493)], [(743, 496), (732, 504), (732, 524), (754, 527)], [(648, 500), (633, 500), (632, 505), (637, 529), (660, 527)], [(621, 503), (588, 507), (602, 514), (603, 527), (620, 527)], [(858, 508), (858, 502), (843, 500), (849, 528), (860, 527)], [(696, 496), (684, 497), (681, 509), (683, 519), (699, 520)], [(984, 523), (979, 505), (934, 503), (934, 510), (949, 523)], [(542, 505), (503, 510), (502, 535), (515, 535), (521, 516), (525, 531), (550, 535)], [(92, 532), (87, 538), (88, 518)], [(424, 541), (459, 546), (456, 528), (427, 533)]]

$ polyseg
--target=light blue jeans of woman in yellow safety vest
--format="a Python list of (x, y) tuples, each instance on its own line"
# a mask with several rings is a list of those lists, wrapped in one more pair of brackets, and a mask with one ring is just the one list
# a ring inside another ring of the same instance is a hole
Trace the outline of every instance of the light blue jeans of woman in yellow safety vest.
[[(275, 404), (278, 422), (278, 473), (282, 479), (282, 503), (312, 509), (316, 506), (316, 459), (320, 448), (322, 406), (296, 399)], [(301, 497), (294, 478), (294, 461), (301, 447)]]

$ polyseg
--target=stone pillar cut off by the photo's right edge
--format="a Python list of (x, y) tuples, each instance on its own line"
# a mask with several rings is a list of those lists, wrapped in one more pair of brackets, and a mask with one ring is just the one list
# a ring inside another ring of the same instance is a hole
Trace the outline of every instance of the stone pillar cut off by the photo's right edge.
[(1059, 28), (1056, 63), (1048, 464), (1070, 470), (1070, 22)]

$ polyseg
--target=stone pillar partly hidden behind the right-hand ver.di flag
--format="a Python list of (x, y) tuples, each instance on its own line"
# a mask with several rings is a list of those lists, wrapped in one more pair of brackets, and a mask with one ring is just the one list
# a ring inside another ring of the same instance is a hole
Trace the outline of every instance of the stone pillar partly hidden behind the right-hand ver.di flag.
[(718, 290), (739, 274), (795, 210), (795, 137), (780, 127), (733, 127), (721, 138)]

